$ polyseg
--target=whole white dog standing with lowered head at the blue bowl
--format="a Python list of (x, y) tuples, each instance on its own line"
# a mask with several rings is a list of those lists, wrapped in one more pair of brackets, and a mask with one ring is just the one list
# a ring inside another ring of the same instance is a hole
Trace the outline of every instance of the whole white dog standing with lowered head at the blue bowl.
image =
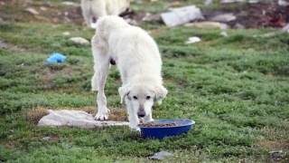
[(116, 15), (100, 17), (97, 33), (91, 40), (94, 56), (92, 91), (98, 91), (96, 120), (107, 120), (107, 98), (104, 93), (110, 64), (117, 64), (123, 82), (118, 89), (121, 102), (126, 101), (129, 127), (137, 129), (138, 118), (151, 121), (154, 101), (166, 97), (161, 76), (162, 59), (153, 38), (139, 27), (126, 24)]

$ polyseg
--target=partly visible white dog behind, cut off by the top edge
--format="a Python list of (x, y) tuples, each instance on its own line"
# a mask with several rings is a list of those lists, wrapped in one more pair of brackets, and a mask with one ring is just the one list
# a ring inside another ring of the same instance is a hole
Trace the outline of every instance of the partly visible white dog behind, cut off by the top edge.
[(118, 15), (126, 11), (130, 0), (81, 0), (82, 15), (89, 27), (93, 18)]

